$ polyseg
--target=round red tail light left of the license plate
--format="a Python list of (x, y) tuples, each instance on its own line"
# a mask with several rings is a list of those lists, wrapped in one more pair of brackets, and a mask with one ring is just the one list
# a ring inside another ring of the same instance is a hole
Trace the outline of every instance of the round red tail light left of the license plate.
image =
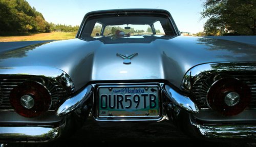
[(25, 81), (11, 91), (10, 103), (18, 114), (36, 117), (50, 108), (51, 96), (41, 83)]

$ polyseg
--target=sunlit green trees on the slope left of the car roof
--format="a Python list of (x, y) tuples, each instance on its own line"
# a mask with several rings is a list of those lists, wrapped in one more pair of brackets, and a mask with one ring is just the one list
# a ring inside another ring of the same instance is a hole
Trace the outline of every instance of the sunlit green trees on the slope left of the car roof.
[(0, 0), (0, 35), (74, 32), (79, 26), (49, 23), (25, 0)]

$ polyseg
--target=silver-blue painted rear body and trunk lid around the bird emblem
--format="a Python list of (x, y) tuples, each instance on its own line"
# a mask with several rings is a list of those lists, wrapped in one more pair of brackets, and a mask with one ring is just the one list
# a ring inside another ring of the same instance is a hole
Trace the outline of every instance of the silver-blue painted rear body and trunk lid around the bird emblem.
[[(90, 81), (165, 79), (179, 87), (187, 70), (212, 62), (255, 62), (256, 47), (232, 41), (177, 36), (151, 43), (104, 44), (71, 39), (3, 51), (0, 67), (45, 66), (65, 71), (76, 90)], [(138, 53), (132, 64), (116, 54)]]

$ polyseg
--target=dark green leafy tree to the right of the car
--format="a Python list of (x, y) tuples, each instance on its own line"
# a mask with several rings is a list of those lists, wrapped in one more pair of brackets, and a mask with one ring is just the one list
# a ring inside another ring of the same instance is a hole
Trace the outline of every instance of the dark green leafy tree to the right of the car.
[(206, 0), (203, 7), (207, 35), (256, 35), (255, 0)]

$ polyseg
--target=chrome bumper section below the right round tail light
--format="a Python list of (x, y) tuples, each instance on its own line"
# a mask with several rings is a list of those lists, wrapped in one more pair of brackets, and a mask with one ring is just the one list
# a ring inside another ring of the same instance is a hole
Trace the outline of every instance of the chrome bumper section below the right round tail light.
[(189, 114), (189, 128), (194, 128), (198, 137), (232, 141), (256, 141), (255, 110), (246, 109), (236, 116), (222, 116), (211, 110), (201, 110), (198, 114)]

